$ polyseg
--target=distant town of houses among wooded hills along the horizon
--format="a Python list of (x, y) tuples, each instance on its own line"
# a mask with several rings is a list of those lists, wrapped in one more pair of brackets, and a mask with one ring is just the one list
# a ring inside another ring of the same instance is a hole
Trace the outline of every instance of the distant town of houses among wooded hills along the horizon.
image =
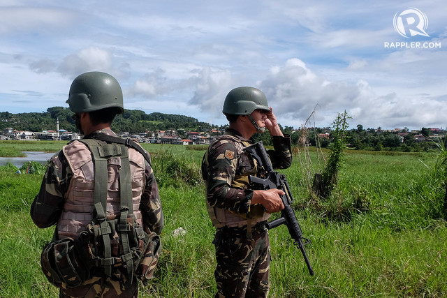
[[(49, 107), (47, 112), (11, 114), (0, 112), (0, 140), (77, 140), (82, 137), (76, 131), (73, 112), (66, 107)], [(225, 132), (228, 125), (216, 126), (200, 122), (193, 117), (178, 114), (153, 112), (146, 114), (140, 110), (125, 110), (112, 123), (112, 130), (121, 137), (132, 137), (140, 143), (206, 145), (214, 137)], [(293, 128), (281, 126), (283, 133), (291, 135), (292, 144), (306, 144), (322, 148), (330, 147), (336, 135), (333, 128), (307, 127)], [(447, 131), (443, 128), (363, 128), (361, 124), (344, 131), (346, 147), (372, 151), (428, 151), (446, 142)], [(254, 135), (272, 145), (270, 134)], [(304, 142), (304, 143), (303, 143)]]

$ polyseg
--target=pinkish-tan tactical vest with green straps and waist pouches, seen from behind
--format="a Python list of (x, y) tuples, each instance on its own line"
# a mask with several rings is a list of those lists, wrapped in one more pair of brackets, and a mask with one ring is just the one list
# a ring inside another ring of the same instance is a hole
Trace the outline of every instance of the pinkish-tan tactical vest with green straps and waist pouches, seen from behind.
[(126, 285), (134, 276), (144, 283), (159, 260), (160, 237), (145, 229), (138, 211), (149, 155), (130, 138), (96, 138), (63, 149), (73, 177), (53, 240), (41, 253), (42, 271), (57, 287), (78, 287), (96, 269), (112, 276), (117, 267)]

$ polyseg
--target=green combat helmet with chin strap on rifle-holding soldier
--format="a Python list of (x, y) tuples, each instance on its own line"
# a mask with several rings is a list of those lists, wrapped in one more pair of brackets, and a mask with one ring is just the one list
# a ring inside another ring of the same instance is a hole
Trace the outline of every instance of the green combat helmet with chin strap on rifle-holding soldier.
[(237, 87), (228, 92), (223, 103), (223, 114), (226, 115), (247, 115), (251, 123), (258, 132), (265, 128), (260, 128), (256, 121), (251, 117), (254, 110), (265, 110), (270, 112), (267, 98), (263, 91), (254, 87)]

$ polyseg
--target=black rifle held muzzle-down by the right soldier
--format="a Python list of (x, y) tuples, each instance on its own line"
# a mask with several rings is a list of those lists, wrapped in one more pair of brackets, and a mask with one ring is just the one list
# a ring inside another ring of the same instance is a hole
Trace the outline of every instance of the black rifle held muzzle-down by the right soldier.
[(249, 176), (250, 185), (257, 190), (268, 190), (277, 188), (286, 193), (285, 195), (281, 195), (281, 200), (284, 204), (284, 209), (281, 210), (281, 217), (267, 223), (267, 228), (270, 230), (282, 224), (285, 224), (287, 226), (288, 232), (291, 234), (292, 239), (295, 241), (295, 245), (300, 248), (302, 256), (305, 258), (307, 269), (309, 269), (309, 274), (313, 276), (314, 269), (312, 269), (305, 251), (305, 245), (309, 244), (310, 240), (302, 237), (300, 224), (298, 223), (295, 212), (291, 207), (293, 198), (291, 190), (288, 187), (286, 176), (284, 174), (274, 172), (272, 163), (270, 162), (270, 158), (265, 151), (262, 141), (245, 148), (244, 151), (247, 151), (253, 158), (255, 158), (258, 162), (258, 166), (263, 167), (263, 170), (265, 171), (265, 178)]

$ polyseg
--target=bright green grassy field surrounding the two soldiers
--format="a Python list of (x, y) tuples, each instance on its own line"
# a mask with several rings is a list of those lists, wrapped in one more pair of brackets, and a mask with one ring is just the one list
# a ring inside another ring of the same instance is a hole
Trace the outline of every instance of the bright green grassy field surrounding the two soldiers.
[[(152, 152), (165, 228), (155, 278), (141, 285), (140, 296), (212, 297), (214, 228), (200, 182), (203, 150), (144, 146)], [(286, 227), (275, 228), (270, 297), (446, 297), (445, 188), (430, 175), (434, 159), (347, 152), (339, 186), (319, 202), (302, 187), (295, 157), (283, 172), (304, 236), (312, 240), (306, 248), (315, 276), (309, 276)], [(0, 172), (0, 297), (57, 297), (40, 268), (41, 248), (53, 229), (40, 230), (29, 217), (41, 179)], [(178, 228), (186, 234), (175, 236)]]

